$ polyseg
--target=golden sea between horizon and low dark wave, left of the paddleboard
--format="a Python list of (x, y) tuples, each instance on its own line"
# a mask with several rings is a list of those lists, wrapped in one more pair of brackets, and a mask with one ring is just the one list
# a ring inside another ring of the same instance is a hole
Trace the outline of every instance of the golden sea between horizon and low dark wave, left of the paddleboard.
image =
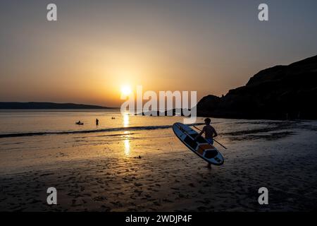
[[(114, 119), (112, 119), (114, 118)], [(96, 126), (96, 119), (99, 125)], [(84, 125), (75, 124), (82, 121)], [(129, 127), (168, 126), (182, 117), (142, 117), (121, 114), (118, 110), (2, 110), (0, 134), (99, 131)]]

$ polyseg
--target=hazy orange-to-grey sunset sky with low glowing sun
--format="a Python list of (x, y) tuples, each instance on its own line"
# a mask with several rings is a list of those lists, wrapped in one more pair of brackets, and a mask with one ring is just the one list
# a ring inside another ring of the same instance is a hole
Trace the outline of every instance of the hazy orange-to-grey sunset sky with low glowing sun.
[(225, 95), (316, 55), (316, 11), (316, 0), (1, 0), (0, 101), (118, 107), (123, 85)]

